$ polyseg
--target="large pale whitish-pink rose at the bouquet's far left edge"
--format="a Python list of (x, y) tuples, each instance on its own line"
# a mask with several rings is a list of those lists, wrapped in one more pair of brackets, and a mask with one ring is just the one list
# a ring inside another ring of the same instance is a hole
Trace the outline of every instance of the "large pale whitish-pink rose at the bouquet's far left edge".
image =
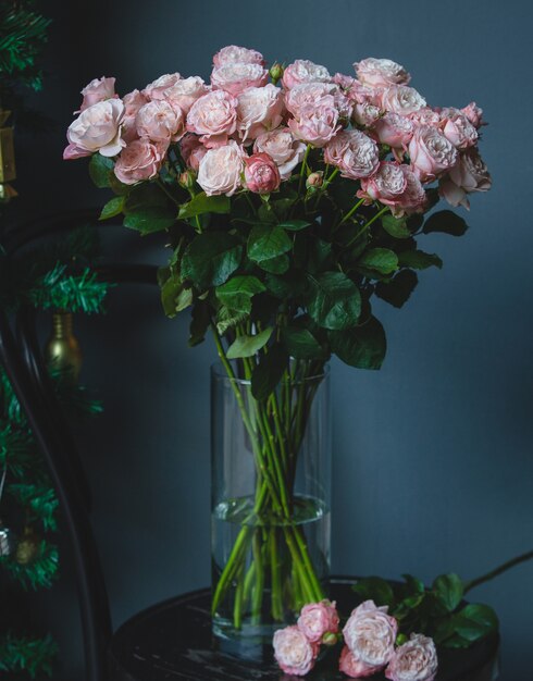
[[(107, 99), (82, 111), (66, 132), (70, 153), (75, 148), (79, 152), (78, 156), (82, 156), (83, 152), (88, 154), (96, 151), (107, 157), (116, 156), (126, 145), (121, 136), (123, 119), (124, 103), (122, 99)], [(67, 158), (76, 157), (69, 156)]]

